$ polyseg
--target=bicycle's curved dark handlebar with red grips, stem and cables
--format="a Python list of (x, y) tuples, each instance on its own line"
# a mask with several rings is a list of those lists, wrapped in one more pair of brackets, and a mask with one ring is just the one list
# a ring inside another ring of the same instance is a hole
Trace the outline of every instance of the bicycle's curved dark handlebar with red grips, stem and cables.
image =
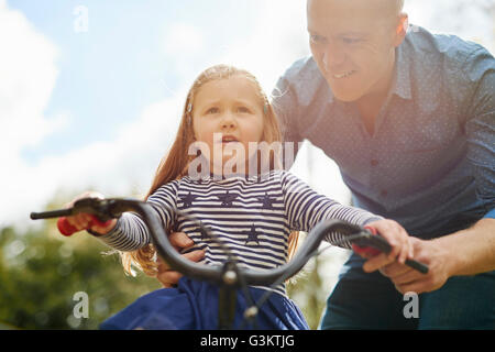
[[(119, 218), (123, 212), (133, 211), (140, 215), (147, 226), (153, 244), (156, 251), (168, 265), (180, 272), (185, 276), (189, 276), (199, 280), (209, 280), (219, 286), (219, 310), (218, 310), (218, 328), (220, 330), (230, 329), (234, 319), (235, 308), (235, 289), (241, 288), (246, 297), (250, 307), (244, 311), (244, 321), (241, 329), (246, 323), (252, 323), (255, 327), (255, 318), (260, 307), (270, 298), (272, 292), (266, 293), (255, 302), (248, 289), (248, 286), (268, 286), (275, 287), (286, 279), (297, 274), (304, 265), (314, 256), (318, 255), (320, 242), (329, 233), (339, 233), (340, 239), (331, 242), (333, 245), (349, 242), (362, 251), (377, 254), (380, 252), (388, 253), (392, 248), (388, 242), (373, 233), (367, 229), (340, 221), (340, 220), (323, 220), (318, 223), (309, 233), (304, 244), (294, 255), (294, 257), (286, 264), (267, 271), (254, 271), (250, 268), (240, 267), (237, 264), (235, 257), (229, 251), (218, 237), (211, 233), (207, 228), (198, 222), (201, 231), (215, 239), (220, 246), (226, 251), (228, 261), (223, 265), (205, 265), (190, 262), (184, 258), (170, 244), (165, 230), (161, 226), (158, 219), (153, 215), (151, 206), (145, 201), (129, 199), (129, 198), (84, 198), (77, 200), (72, 208), (59, 209), (44, 212), (32, 212), (31, 219), (48, 219), (59, 218), (58, 228), (61, 232), (70, 235), (75, 229), (70, 229), (70, 224), (66, 222), (65, 217), (74, 216), (76, 213), (85, 212), (92, 216), (94, 221), (103, 223), (110, 219)], [(175, 210), (178, 215), (194, 219), (190, 215), (184, 211)], [(196, 220), (195, 220), (196, 221)], [(407, 260), (406, 265), (420, 273), (428, 273), (428, 266), (414, 261)]]

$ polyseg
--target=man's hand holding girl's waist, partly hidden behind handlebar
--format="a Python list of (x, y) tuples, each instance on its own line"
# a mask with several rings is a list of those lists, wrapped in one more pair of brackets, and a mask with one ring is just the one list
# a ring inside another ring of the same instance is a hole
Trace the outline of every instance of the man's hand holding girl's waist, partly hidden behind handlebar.
[[(193, 242), (193, 240), (189, 239), (187, 237), (187, 234), (184, 232), (173, 232), (168, 237), (168, 240), (170, 241), (170, 244), (177, 251), (180, 251), (183, 249), (188, 249), (195, 244)], [(189, 261), (199, 262), (205, 256), (205, 252), (198, 250), (198, 251), (183, 254), (183, 256)], [(165, 288), (177, 285), (178, 280), (183, 275), (179, 272), (175, 272), (175, 271), (170, 270), (168, 264), (165, 263), (164, 261), (162, 261), (162, 258), (160, 258), (160, 256), (158, 256), (158, 274), (156, 275), (156, 278), (158, 279), (158, 282), (162, 283), (162, 285)]]

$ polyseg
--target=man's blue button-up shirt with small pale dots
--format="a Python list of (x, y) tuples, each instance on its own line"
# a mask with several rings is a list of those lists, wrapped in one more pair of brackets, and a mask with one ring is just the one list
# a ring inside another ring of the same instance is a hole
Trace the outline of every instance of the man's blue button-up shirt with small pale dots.
[(274, 91), (285, 141), (320, 147), (339, 165), (354, 206), (410, 234), (495, 218), (494, 57), (417, 28), (396, 48), (393, 77), (371, 135), (355, 105), (333, 98), (311, 57), (296, 62)]

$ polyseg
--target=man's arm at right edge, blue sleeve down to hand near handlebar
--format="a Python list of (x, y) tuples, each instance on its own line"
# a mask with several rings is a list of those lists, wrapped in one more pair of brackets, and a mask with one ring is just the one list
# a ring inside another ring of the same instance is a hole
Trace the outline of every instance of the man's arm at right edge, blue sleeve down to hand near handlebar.
[(377, 268), (397, 289), (431, 292), (449, 277), (475, 275), (495, 270), (495, 59), (483, 48), (474, 52), (464, 65), (464, 84), (471, 87), (471, 100), (464, 121), (468, 160), (476, 183), (476, 196), (485, 205), (485, 216), (469, 229), (430, 241), (415, 239), (415, 258), (429, 265), (427, 275), (404, 265), (385, 264), (378, 255), (363, 268)]

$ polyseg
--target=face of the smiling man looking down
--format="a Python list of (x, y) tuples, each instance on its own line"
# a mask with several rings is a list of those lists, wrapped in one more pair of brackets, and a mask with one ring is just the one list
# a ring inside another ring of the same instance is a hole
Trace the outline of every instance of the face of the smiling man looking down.
[[(308, 0), (312, 56), (334, 97), (383, 95), (395, 63), (398, 16), (384, 0)], [(387, 7), (388, 6), (388, 7)]]

